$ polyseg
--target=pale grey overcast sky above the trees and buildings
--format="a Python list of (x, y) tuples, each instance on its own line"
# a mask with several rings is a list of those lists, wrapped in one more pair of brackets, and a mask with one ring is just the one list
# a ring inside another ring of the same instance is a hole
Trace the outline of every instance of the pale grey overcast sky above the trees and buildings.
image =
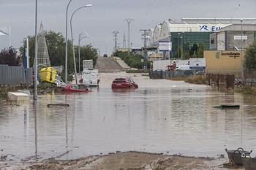
[[(66, 9), (69, 0), (37, 0), (37, 28), (42, 22), (46, 31), (61, 32), (65, 37)], [(75, 9), (86, 4), (92, 7)], [(11, 44), (20, 47), (23, 39), (35, 34), (35, 0), (0, 0), (1, 26), (11, 26)], [(123, 47), (124, 33), (128, 42), (127, 18), (130, 23), (132, 47), (143, 47), (140, 29), (154, 28), (164, 20), (181, 18), (256, 18), (255, 0), (72, 0), (68, 12), (75, 45), (78, 36), (86, 32), (90, 37), (80, 45), (91, 43), (101, 55), (113, 52), (113, 31), (118, 31), (118, 46)], [(128, 47), (126, 43), (126, 47)]]

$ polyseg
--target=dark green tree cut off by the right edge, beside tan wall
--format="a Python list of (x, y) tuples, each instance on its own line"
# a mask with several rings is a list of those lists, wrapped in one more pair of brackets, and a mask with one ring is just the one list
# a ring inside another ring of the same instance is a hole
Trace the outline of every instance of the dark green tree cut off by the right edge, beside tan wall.
[(256, 40), (246, 48), (244, 66), (247, 69), (256, 69)]

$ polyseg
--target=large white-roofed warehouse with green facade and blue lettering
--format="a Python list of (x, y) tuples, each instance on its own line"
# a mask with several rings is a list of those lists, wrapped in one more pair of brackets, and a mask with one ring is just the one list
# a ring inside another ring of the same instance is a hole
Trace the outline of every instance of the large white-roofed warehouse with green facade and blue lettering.
[[(244, 19), (243, 23), (244, 31), (251, 31), (250, 35), (247, 36), (247, 42), (249, 43), (249, 39), (251, 39), (254, 34), (252, 27), (249, 25), (252, 26), (256, 24), (256, 19)], [(176, 58), (178, 47), (181, 47), (181, 49), (183, 49), (182, 51), (187, 53), (194, 44), (199, 46), (200, 42), (203, 43), (206, 50), (217, 50), (217, 41), (220, 41), (220, 37), (222, 37), (221, 34), (217, 33), (219, 33), (220, 30), (228, 31), (235, 28), (238, 30), (239, 24), (241, 25), (241, 19), (237, 18), (182, 18), (180, 23), (176, 20), (169, 19), (165, 20), (162, 24), (155, 26), (154, 29), (151, 28), (151, 31), (148, 31), (148, 36), (151, 37), (151, 43), (148, 46), (159, 47), (159, 42), (172, 42), (171, 53), (160, 52), (159, 48), (157, 50), (157, 53), (165, 56), (164, 59)], [(247, 25), (250, 28), (247, 28)], [(213, 35), (210, 38), (211, 34)], [(217, 40), (218, 35), (219, 40)], [(227, 37), (228, 36), (226, 36), (226, 38)], [(237, 36), (236, 38), (238, 39)], [(232, 45), (236, 45), (236, 43)], [(233, 49), (233, 47), (231, 47), (232, 45), (230, 44), (230, 48)], [(239, 45), (236, 46), (240, 47)], [(226, 50), (230, 50), (229, 45), (226, 45), (226, 47)], [(183, 54), (181, 53), (179, 58), (182, 58), (182, 55)]]

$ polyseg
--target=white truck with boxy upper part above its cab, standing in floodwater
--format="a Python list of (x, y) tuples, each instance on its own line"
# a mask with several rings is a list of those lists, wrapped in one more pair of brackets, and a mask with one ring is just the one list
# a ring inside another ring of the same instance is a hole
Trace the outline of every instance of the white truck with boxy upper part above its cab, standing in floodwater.
[(94, 69), (93, 60), (83, 61), (83, 72), (80, 83), (86, 86), (99, 86), (99, 71)]

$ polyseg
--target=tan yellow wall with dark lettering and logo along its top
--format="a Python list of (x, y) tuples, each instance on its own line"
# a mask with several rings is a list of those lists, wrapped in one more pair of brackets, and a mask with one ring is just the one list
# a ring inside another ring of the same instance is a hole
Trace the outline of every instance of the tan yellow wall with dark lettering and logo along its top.
[[(206, 72), (214, 74), (241, 74), (241, 51), (204, 51)], [(243, 51), (244, 61), (244, 51)]]

